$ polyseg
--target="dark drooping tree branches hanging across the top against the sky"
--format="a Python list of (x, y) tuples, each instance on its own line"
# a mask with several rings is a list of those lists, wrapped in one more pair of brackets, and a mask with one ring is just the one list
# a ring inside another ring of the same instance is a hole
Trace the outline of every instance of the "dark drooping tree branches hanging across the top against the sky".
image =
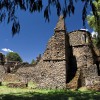
[[(91, 7), (93, 15), (98, 19), (98, 13), (93, 1), (98, 0), (81, 0), (84, 4), (82, 11), (83, 25), (85, 25), (88, 6)], [(20, 23), (16, 16), (17, 9), (29, 10), (30, 13), (44, 10), (44, 18), (49, 21), (51, 6), (56, 7), (58, 16), (63, 14), (66, 17), (67, 15), (74, 14), (74, 2), (78, 2), (78, 0), (47, 0), (45, 2), (47, 2), (47, 5), (44, 7), (43, 0), (0, 0), (0, 22), (3, 22), (5, 19), (7, 23), (12, 22), (12, 35), (14, 35), (20, 31)]]

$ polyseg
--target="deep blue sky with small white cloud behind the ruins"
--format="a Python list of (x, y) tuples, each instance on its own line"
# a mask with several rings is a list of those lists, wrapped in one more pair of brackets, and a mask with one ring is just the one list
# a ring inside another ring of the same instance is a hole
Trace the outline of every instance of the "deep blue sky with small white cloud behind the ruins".
[[(75, 14), (65, 19), (67, 32), (78, 30), (83, 27), (82, 24), (82, 5), (76, 4)], [(89, 9), (90, 10), (90, 9)], [(89, 11), (90, 12), (90, 11)], [(50, 37), (54, 34), (54, 28), (58, 21), (58, 16), (54, 8), (51, 8), (50, 22), (46, 22), (41, 13), (32, 13), (28, 11), (17, 11), (21, 30), (12, 37), (11, 25), (6, 21), (0, 24), (0, 52), (17, 52), (24, 62), (31, 62), (39, 54), (43, 54)], [(92, 29), (86, 24), (86, 28), (92, 32)]]

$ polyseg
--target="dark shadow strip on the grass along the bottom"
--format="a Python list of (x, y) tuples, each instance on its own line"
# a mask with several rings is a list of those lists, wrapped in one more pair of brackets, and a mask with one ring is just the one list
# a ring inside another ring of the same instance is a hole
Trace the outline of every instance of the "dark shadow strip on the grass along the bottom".
[(0, 95), (0, 100), (100, 100), (100, 93), (55, 91), (44, 94), (38, 92), (26, 92), (20, 94), (3, 94)]

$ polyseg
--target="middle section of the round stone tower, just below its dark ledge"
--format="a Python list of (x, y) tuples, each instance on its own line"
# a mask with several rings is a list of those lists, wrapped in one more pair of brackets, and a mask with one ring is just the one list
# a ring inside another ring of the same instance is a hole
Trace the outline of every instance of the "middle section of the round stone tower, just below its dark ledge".
[(89, 67), (90, 65), (94, 64), (93, 53), (90, 46), (86, 45), (72, 48), (78, 68), (81, 66)]

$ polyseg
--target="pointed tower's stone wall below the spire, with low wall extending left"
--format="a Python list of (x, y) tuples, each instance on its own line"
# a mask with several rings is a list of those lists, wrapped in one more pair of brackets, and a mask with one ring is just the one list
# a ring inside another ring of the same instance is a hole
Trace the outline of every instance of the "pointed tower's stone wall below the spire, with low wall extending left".
[(64, 45), (65, 33), (54, 34), (37, 65), (35, 67), (21, 67), (16, 73), (32, 78), (33, 82), (37, 83), (38, 88), (66, 88)]

